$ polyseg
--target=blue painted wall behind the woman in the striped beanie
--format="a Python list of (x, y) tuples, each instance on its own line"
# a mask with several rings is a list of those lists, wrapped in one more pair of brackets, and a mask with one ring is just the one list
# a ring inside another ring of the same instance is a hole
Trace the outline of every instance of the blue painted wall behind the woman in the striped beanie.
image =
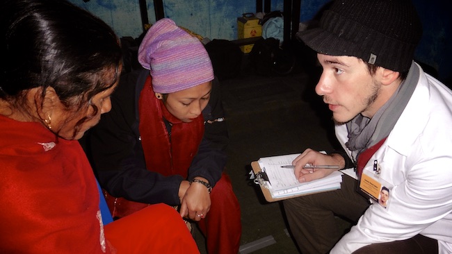
[[(70, 0), (89, 10), (120, 36), (138, 37), (142, 33), (138, 0)], [(256, 12), (256, 1), (251, 0), (163, 0), (165, 16), (179, 26), (211, 39), (235, 40), (237, 17), (246, 12)], [(272, 10), (282, 10), (283, 0), (272, 0)], [(147, 0), (147, 15), (155, 22), (154, 1)]]

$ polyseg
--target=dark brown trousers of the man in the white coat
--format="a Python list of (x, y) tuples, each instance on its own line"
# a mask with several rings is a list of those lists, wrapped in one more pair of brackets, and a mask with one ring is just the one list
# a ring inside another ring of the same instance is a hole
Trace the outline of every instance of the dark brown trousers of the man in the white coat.
[[(341, 189), (290, 198), (284, 210), (293, 237), (303, 254), (328, 253), (341, 239), (335, 216), (353, 223), (364, 214), (369, 201), (356, 192), (357, 181), (344, 175)], [(421, 244), (419, 244), (421, 243)], [(355, 253), (438, 253), (437, 241), (417, 235), (404, 241), (370, 244)]]

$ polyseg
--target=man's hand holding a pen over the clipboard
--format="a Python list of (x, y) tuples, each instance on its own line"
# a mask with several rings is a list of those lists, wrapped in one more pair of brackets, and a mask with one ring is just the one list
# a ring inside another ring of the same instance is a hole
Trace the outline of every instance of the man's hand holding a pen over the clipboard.
[(298, 182), (305, 183), (312, 180), (320, 179), (330, 175), (337, 169), (303, 169), (306, 164), (309, 165), (339, 165), (339, 169), (344, 169), (345, 160), (337, 153), (323, 154), (312, 149), (306, 149), (302, 154), (298, 155), (292, 162), (295, 165), (293, 173)]

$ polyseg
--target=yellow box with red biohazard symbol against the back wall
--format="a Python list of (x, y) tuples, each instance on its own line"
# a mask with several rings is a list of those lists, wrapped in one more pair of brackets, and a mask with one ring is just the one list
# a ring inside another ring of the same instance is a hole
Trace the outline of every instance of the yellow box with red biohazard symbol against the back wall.
[[(237, 18), (237, 37), (238, 39), (246, 39), (250, 37), (262, 36), (262, 26), (259, 24), (259, 18), (254, 14), (245, 13), (243, 17)], [(243, 53), (250, 53), (254, 44), (240, 46)]]

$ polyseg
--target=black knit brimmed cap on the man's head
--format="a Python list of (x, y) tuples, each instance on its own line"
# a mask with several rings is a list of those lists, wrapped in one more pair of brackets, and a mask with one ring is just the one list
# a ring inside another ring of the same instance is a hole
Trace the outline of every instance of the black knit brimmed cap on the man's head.
[(335, 0), (318, 27), (298, 33), (318, 53), (355, 56), (401, 72), (410, 69), (421, 36), (410, 0)]

